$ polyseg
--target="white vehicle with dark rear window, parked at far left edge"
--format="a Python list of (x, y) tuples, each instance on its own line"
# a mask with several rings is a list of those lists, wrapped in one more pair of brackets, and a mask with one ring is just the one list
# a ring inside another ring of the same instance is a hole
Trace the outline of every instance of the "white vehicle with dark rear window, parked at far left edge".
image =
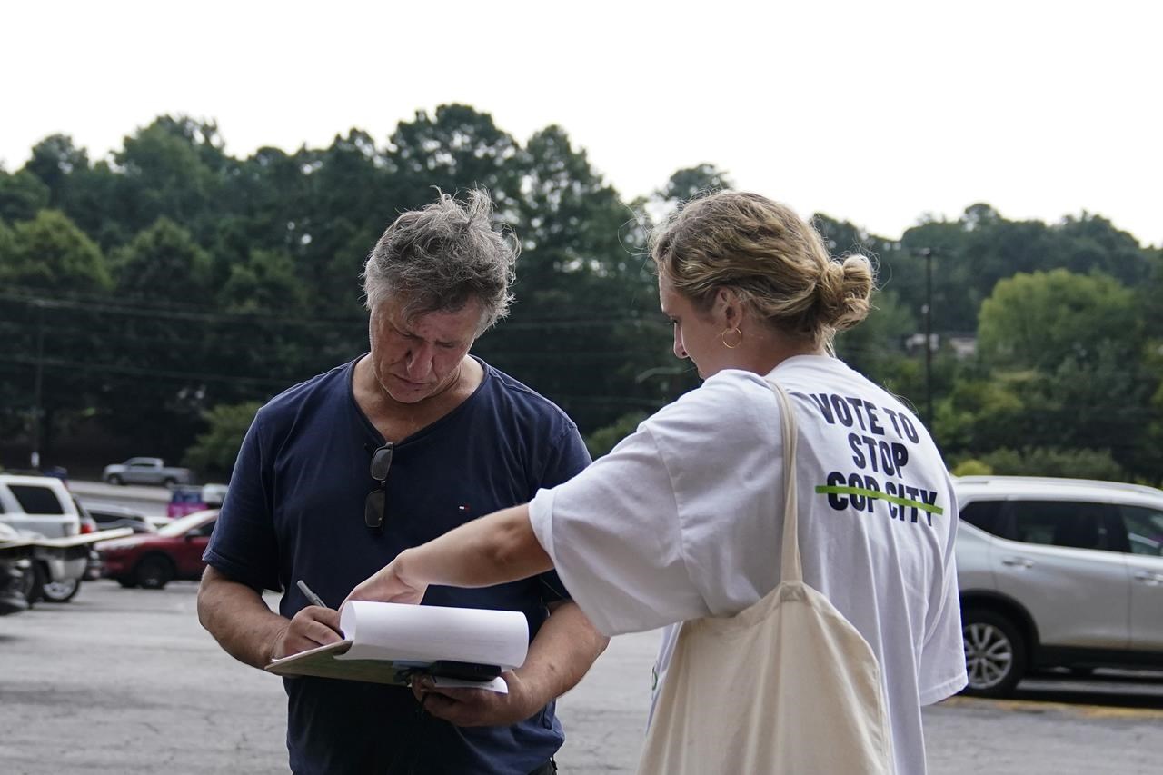
[[(51, 476), (0, 474), (0, 522), (17, 531), (62, 539), (80, 533), (80, 514), (64, 482)], [(71, 600), (80, 589), (88, 546), (66, 550), (37, 549), (29, 602), (44, 598), (52, 603)]]

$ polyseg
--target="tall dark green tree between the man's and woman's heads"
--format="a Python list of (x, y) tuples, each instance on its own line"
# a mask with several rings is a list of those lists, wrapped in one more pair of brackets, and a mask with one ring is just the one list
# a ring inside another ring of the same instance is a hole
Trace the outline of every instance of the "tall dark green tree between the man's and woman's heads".
[(659, 406), (661, 383), (636, 377), (673, 356), (633, 212), (559, 127), (534, 134), (520, 164), (516, 304), (481, 354), (586, 431)]

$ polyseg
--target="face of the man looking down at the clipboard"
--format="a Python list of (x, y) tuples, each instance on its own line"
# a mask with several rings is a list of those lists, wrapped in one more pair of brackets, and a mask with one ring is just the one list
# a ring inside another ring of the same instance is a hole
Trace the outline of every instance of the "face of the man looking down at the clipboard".
[(443, 392), (459, 377), (461, 361), (477, 339), (480, 303), (456, 312), (429, 312), (405, 320), (391, 300), (369, 319), (372, 371), (380, 386), (401, 404)]

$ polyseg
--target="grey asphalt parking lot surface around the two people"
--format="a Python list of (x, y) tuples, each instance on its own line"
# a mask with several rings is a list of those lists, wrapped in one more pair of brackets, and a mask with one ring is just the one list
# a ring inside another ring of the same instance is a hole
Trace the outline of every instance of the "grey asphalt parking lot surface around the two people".
[[(0, 618), (0, 773), (285, 773), (281, 684), (219, 649), (195, 589), (100, 581), (72, 603)], [(634, 772), (657, 640), (615, 638), (561, 699), (563, 775)], [(1163, 772), (1158, 678), (1028, 681), (1016, 699), (956, 697), (925, 721), (935, 774)]]

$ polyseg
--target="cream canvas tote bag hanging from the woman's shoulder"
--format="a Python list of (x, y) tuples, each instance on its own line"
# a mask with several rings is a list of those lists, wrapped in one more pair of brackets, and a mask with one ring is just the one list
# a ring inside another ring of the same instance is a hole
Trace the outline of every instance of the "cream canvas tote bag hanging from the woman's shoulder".
[(734, 617), (679, 630), (640, 775), (893, 772), (880, 668), (868, 641), (804, 583), (797, 540), (795, 415), (783, 411), (779, 585)]

